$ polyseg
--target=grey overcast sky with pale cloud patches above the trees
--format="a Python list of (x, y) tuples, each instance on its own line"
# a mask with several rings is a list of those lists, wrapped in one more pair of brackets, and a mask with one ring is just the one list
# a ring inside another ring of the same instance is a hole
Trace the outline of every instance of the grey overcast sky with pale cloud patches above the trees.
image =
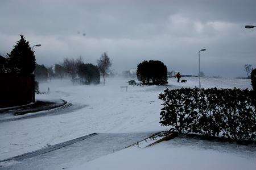
[[(23, 34), (47, 66), (82, 56), (96, 64), (102, 52), (121, 72), (143, 60), (169, 71), (196, 74), (198, 51), (207, 76), (246, 76), (256, 67), (256, 1), (0, 1), (0, 53)], [(83, 36), (83, 34), (86, 34)]]

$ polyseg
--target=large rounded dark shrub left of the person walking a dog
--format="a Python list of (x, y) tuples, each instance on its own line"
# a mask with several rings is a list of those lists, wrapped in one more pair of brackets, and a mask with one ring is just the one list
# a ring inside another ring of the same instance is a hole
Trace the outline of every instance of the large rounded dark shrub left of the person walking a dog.
[(143, 85), (167, 84), (167, 67), (158, 60), (143, 61), (137, 67), (137, 78)]

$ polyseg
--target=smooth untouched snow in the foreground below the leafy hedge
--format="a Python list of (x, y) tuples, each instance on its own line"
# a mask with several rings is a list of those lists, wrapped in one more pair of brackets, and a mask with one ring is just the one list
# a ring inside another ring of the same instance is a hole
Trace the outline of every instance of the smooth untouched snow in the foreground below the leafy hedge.
[(175, 138), (152, 147), (129, 147), (71, 169), (255, 169), (256, 148)]

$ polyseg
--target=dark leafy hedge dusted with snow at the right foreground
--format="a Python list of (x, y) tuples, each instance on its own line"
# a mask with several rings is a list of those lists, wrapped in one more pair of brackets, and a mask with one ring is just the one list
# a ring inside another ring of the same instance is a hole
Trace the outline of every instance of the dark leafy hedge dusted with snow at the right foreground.
[(179, 133), (255, 142), (253, 90), (182, 88), (164, 90), (160, 123)]

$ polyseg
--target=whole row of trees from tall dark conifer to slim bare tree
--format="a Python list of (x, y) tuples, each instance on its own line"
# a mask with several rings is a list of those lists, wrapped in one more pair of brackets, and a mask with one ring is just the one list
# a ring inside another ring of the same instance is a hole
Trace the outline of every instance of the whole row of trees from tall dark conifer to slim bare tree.
[(79, 81), (81, 84), (98, 84), (100, 76), (105, 79), (110, 71), (112, 60), (106, 52), (102, 53), (97, 65), (84, 63), (81, 57), (77, 59), (65, 58), (63, 62), (55, 64), (54, 67), (46, 67), (36, 64), (34, 51), (31, 50), (29, 42), (20, 35), (14, 48), (7, 57), (0, 56), (0, 73), (35, 74), (36, 81), (47, 81), (54, 78), (71, 77), (73, 84)]

